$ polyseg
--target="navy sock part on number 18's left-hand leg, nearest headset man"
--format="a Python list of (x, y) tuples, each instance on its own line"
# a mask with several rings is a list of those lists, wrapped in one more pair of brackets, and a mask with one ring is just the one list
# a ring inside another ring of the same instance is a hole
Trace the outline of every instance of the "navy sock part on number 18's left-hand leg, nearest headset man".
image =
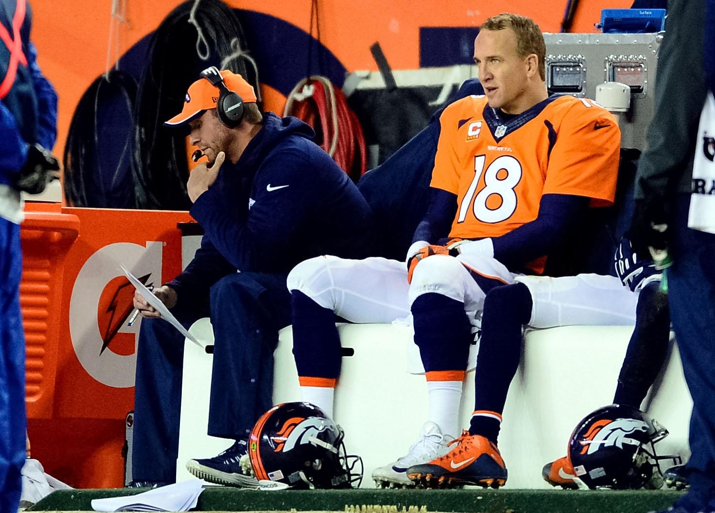
[(293, 309), (293, 356), (298, 376), (340, 376), (340, 335), (335, 312), (322, 308), (300, 290), (291, 290)]

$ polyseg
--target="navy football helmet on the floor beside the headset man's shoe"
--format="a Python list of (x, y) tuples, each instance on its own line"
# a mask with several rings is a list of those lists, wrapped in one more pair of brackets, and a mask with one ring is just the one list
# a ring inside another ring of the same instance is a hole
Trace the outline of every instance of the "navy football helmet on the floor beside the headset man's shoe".
[(344, 436), (315, 405), (273, 406), (258, 419), (248, 441), (255, 477), (291, 488), (359, 487), (363, 460), (345, 454)]

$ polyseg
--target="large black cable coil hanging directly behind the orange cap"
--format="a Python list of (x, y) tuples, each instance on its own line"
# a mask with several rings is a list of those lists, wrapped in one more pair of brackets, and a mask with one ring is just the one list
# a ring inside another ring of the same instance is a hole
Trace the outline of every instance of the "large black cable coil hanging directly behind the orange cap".
[[(220, 66), (235, 54), (231, 41), (246, 49), (244, 31), (232, 9), (220, 0), (201, 0), (194, 17), (207, 41), (209, 57), (197, 54), (197, 29), (189, 24), (194, 0), (177, 6), (159, 25), (149, 43), (148, 63), (139, 82), (134, 127), (134, 180), (140, 208), (188, 210), (189, 168), (186, 131), (164, 127), (181, 112), (189, 85), (209, 66)], [(257, 89), (252, 67), (231, 59), (227, 69)]]

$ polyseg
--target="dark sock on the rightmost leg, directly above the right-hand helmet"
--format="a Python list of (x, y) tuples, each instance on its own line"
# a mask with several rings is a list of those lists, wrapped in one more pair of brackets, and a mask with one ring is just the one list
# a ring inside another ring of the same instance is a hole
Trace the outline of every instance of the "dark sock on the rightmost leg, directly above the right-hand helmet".
[(640, 409), (648, 389), (661, 371), (670, 340), (668, 296), (660, 283), (649, 283), (638, 294), (636, 327), (628, 341), (626, 357), (613, 402)]

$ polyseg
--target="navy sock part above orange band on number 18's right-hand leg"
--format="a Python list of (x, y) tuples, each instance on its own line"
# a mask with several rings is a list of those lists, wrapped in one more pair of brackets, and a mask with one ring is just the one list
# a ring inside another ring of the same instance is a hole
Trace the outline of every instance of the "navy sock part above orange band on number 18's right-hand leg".
[(474, 336), (464, 303), (430, 292), (419, 295), (411, 310), (425, 371), (465, 371)]

